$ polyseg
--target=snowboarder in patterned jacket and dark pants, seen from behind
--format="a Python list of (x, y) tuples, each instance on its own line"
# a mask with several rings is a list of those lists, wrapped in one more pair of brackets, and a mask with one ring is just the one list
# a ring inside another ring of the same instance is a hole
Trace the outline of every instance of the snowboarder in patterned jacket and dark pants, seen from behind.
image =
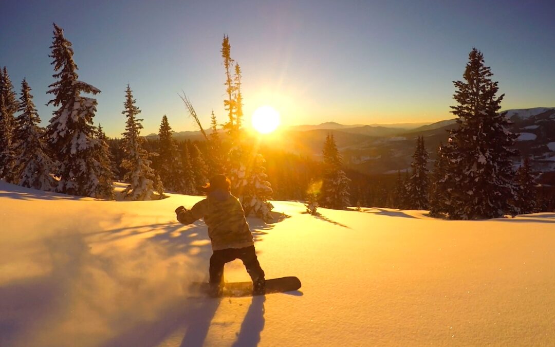
[(225, 175), (218, 174), (201, 187), (206, 199), (187, 210), (183, 206), (175, 209), (180, 223), (191, 224), (200, 218), (208, 226), (213, 254), (210, 257), (210, 295), (219, 296), (223, 291), (224, 265), (235, 259), (243, 260), (253, 280), (253, 294), (265, 294), (264, 270), (260, 267), (254, 249), (253, 234), (245, 219), (239, 200), (230, 193), (231, 182)]

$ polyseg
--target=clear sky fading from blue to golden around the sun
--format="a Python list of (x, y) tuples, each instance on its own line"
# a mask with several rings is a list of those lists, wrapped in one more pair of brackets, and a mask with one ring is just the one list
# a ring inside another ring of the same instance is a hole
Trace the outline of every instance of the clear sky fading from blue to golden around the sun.
[(73, 43), (79, 79), (102, 90), (95, 124), (124, 132), (125, 88), (144, 135), (224, 123), (221, 41), (243, 70), (245, 122), (262, 105), (282, 125), (391, 124), (453, 118), (452, 81), (473, 47), (504, 93), (503, 109), (555, 106), (555, 6), (545, 1), (2, 0), (0, 66), (31, 86), (42, 124), (54, 108), (52, 23)]

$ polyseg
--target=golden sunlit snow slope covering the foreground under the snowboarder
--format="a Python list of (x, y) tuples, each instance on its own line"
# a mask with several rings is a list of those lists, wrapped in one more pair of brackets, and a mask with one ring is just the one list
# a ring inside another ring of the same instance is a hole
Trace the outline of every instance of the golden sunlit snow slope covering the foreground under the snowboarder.
[[(123, 187), (119, 187), (123, 189)], [(211, 254), (202, 197), (114, 202), (0, 182), (0, 345), (555, 344), (555, 214), (444, 221), (272, 202), (249, 223), (268, 278), (300, 291), (193, 297)], [(248, 280), (240, 261), (229, 281)]]

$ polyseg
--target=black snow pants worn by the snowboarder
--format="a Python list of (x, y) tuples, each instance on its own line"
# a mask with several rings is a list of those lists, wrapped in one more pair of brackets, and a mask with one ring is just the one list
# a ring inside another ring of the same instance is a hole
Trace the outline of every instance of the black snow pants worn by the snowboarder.
[(264, 270), (260, 267), (254, 246), (245, 248), (226, 248), (215, 250), (210, 257), (210, 284), (220, 284), (224, 279), (224, 265), (235, 259), (243, 260), (245, 268), (254, 281), (264, 279)]

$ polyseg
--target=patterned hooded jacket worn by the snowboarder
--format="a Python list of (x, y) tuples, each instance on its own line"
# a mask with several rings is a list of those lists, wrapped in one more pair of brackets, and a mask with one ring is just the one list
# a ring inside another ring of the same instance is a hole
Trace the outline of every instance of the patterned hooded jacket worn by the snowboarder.
[(177, 215), (183, 224), (191, 224), (200, 218), (204, 218), (204, 223), (208, 225), (213, 250), (254, 245), (243, 207), (230, 193), (215, 190), (190, 210), (181, 210)]

